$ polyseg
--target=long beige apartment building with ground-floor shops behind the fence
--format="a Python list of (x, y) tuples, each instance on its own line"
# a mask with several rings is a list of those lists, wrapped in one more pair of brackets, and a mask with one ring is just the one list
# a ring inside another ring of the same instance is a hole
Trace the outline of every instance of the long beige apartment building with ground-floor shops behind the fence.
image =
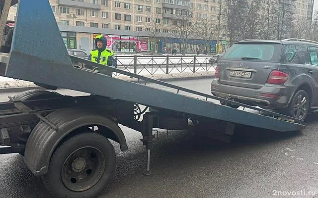
[[(108, 40), (107, 47), (113, 51), (140, 52), (154, 48), (163, 53), (181, 49), (180, 40), (171, 36), (176, 16), (190, 12), (193, 17), (217, 23), (221, 3), (221, 0), (49, 1), (67, 48), (90, 50), (96, 34), (103, 34)], [(15, 20), (16, 10), (16, 5), (10, 8), (8, 20)], [(166, 33), (155, 44), (151, 42), (152, 23), (160, 24), (156, 32)], [(190, 39), (188, 43), (188, 52), (204, 48), (198, 39)], [(211, 45), (215, 43), (212, 41)]]

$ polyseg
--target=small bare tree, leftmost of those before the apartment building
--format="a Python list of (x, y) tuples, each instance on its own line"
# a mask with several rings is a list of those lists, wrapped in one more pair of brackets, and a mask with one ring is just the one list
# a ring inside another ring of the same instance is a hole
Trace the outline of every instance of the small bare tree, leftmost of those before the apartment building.
[(151, 37), (151, 40), (150, 40), (150, 42), (151, 43), (153, 43), (153, 45), (151, 46), (151, 52), (152, 52), (152, 54), (154, 54), (154, 49), (155, 49), (155, 47), (154, 47), (154, 44), (156, 45), (158, 45), (158, 42), (159, 42), (159, 39), (161, 38), (161, 36), (162, 36), (162, 27), (163, 27), (163, 25), (162, 25), (162, 15), (160, 14), (152, 14), (152, 15), (149, 15), (148, 16), (148, 18), (150, 19), (150, 21), (148, 20), (146, 20), (145, 22), (144, 22), (144, 27), (145, 28), (148, 28), (148, 30), (146, 30), (146, 31), (148, 31), (149, 33), (150, 33), (150, 37)]

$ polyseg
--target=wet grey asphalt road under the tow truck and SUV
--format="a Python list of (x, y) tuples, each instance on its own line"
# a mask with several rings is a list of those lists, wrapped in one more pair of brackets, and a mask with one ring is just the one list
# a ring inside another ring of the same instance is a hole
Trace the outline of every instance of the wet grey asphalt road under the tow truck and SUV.
[[(209, 93), (210, 80), (173, 84)], [(0, 100), (7, 95), (0, 95)], [(152, 149), (152, 176), (142, 174), (142, 136), (121, 126), (129, 150), (121, 152), (114, 144), (116, 171), (99, 198), (318, 198), (317, 120), (318, 114), (310, 115), (301, 133), (239, 128), (230, 144), (189, 138), (185, 131), (159, 130)], [(316, 195), (305, 196), (315, 190)], [(0, 155), (0, 198), (49, 196), (22, 156), (6, 154)]]

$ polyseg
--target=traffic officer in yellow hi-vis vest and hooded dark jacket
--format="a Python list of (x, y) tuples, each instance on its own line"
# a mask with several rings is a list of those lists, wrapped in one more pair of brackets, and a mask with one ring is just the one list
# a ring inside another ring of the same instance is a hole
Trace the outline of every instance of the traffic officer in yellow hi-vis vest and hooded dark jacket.
[(107, 49), (106, 37), (97, 35), (95, 37), (95, 47), (96, 49), (90, 51), (88, 60), (117, 68), (117, 60), (114, 56), (114, 52)]

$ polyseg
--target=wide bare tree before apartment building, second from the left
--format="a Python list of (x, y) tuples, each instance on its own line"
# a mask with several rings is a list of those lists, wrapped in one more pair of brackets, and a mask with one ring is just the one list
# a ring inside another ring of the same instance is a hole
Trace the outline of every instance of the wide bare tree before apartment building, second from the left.
[(175, 38), (181, 41), (181, 50), (185, 54), (188, 49), (188, 39), (194, 38), (196, 31), (197, 18), (192, 16), (190, 8), (187, 10), (178, 10), (178, 13), (173, 13), (173, 22), (170, 32)]

